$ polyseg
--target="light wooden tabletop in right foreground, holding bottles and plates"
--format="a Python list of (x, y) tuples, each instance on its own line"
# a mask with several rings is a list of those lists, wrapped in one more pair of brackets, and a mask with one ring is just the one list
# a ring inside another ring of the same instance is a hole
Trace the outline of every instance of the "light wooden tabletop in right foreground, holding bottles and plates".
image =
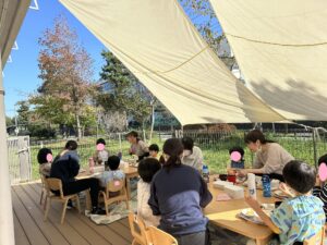
[[(214, 198), (204, 209), (204, 213), (211, 223), (255, 240), (257, 245), (267, 244), (272, 236), (272, 232), (268, 226), (255, 224), (237, 217), (242, 209), (249, 208), (244, 199), (217, 201), (217, 195), (223, 193), (223, 191), (214, 188), (213, 182), (208, 184), (208, 187)], [(257, 199), (261, 204), (275, 204), (279, 200), (275, 197), (263, 197), (262, 191), (257, 191)]]

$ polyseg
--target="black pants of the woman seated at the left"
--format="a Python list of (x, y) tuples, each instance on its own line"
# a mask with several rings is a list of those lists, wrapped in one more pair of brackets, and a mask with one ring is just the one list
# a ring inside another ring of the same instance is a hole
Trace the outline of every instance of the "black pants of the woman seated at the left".
[(89, 188), (92, 207), (98, 207), (99, 181), (95, 177), (77, 180), (65, 183), (63, 186), (63, 195), (72, 195), (81, 193)]

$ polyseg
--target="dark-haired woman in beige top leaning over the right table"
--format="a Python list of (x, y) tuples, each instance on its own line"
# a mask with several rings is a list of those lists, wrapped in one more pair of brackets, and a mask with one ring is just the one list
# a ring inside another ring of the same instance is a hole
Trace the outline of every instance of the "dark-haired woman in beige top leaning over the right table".
[(267, 140), (258, 131), (251, 131), (244, 138), (247, 148), (255, 152), (254, 168), (240, 170), (240, 175), (246, 173), (269, 174), (272, 179), (283, 181), (283, 167), (294, 158), (279, 144)]

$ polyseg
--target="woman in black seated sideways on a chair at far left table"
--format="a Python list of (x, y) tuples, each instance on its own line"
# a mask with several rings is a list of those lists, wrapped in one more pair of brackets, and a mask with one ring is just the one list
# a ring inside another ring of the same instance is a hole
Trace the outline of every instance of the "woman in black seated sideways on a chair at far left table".
[(65, 144), (64, 150), (56, 157), (51, 166), (50, 177), (61, 180), (63, 195), (89, 189), (93, 206), (92, 212), (100, 215), (102, 211), (98, 209), (99, 181), (95, 177), (75, 180), (80, 171), (80, 159), (76, 149), (77, 143), (75, 140), (69, 140)]

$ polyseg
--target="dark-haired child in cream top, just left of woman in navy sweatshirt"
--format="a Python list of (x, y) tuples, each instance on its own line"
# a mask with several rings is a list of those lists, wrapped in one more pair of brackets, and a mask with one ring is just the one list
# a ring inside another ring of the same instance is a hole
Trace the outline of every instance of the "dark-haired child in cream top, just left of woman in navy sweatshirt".
[(161, 164), (155, 158), (146, 158), (138, 163), (141, 180), (137, 183), (137, 215), (143, 218), (146, 225), (158, 226), (160, 217), (154, 216), (148, 206), (150, 196), (150, 183), (153, 176), (161, 169)]

